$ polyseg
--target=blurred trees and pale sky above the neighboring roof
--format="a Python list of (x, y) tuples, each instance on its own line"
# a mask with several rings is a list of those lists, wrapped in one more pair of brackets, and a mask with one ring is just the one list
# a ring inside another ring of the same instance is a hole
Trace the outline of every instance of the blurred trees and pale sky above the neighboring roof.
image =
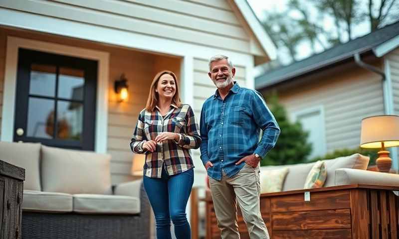
[(285, 11), (265, 12), (262, 24), (279, 51), (297, 61), (302, 43), (317, 53), (353, 39), (361, 24), (372, 32), (398, 19), (399, 0), (289, 0)]

